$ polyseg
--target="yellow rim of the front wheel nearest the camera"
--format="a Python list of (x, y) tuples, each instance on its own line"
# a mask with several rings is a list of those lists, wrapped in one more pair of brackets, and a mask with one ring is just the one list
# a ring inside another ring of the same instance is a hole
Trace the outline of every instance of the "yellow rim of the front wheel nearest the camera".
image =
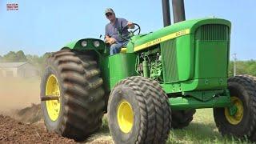
[(134, 112), (130, 103), (123, 100), (118, 105), (118, 125), (122, 132), (129, 133), (134, 125)]

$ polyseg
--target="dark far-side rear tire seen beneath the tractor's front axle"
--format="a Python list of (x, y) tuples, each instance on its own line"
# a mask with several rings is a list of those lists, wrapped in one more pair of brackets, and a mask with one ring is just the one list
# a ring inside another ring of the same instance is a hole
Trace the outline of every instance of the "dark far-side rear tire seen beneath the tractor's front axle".
[(193, 120), (193, 115), (196, 110), (172, 110), (171, 113), (171, 126), (174, 129), (182, 129), (189, 126), (190, 122)]

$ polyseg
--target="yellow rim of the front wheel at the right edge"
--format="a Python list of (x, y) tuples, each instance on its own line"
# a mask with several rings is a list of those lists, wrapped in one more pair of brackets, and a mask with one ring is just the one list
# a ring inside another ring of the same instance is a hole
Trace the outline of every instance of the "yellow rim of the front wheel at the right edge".
[(238, 123), (242, 121), (243, 117), (242, 101), (237, 97), (231, 97), (230, 100), (234, 104), (234, 106), (238, 108), (238, 110), (236, 114), (230, 115), (229, 108), (225, 108), (226, 120), (232, 125), (238, 125)]

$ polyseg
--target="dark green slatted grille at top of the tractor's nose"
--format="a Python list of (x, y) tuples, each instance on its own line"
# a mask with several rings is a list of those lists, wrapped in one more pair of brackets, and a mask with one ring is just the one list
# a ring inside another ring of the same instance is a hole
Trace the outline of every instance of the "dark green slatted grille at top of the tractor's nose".
[(228, 40), (228, 27), (219, 24), (200, 26), (196, 32), (196, 39), (202, 41), (226, 41)]

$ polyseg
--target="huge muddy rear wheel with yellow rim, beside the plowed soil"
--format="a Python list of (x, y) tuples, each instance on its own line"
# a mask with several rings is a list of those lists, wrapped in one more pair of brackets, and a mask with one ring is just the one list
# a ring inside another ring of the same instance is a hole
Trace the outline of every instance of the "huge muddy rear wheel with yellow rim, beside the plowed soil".
[(47, 59), (41, 96), (59, 100), (42, 101), (47, 130), (81, 141), (102, 125), (104, 90), (97, 62), (92, 56), (60, 50)]

